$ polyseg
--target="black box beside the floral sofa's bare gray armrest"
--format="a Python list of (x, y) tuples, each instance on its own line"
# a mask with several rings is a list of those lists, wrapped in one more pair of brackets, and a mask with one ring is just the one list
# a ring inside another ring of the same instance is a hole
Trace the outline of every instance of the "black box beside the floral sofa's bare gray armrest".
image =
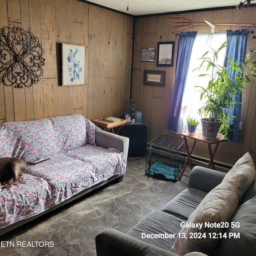
[(128, 137), (129, 150), (128, 157), (145, 156), (147, 150), (147, 125), (141, 124), (124, 124), (119, 135)]

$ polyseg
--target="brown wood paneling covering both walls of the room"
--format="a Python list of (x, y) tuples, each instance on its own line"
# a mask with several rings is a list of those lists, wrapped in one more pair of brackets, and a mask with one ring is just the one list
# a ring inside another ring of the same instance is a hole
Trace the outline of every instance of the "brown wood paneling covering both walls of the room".
[[(0, 0), (0, 3), (1, 27), (20, 26), (30, 30), (42, 41), (45, 58), (44, 75), (38, 84), (23, 89), (0, 84), (0, 122), (74, 113), (90, 119), (110, 114), (122, 116), (124, 111), (128, 111), (131, 93), (136, 110), (143, 112), (143, 121), (148, 125), (148, 141), (158, 134), (172, 135), (172, 131), (166, 129), (166, 124), (175, 77), (178, 38), (175, 36), (176, 26), (167, 24), (170, 15), (133, 18), (78, 0)], [(255, 23), (255, 14), (256, 7), (250, 7), (241, 12), (227, 9), (179, 16), (195, 21)], [(246, 27), (219, 25), (215, 32), (241, 28)], [(256, 30), (255, 27), (248, 28)], [(197, 25), (185, 31), (192, 30), (210, 32), (210, 27)], [(157, 42), (161, 41), (175, 42), (174, 66), (158, 67), (156, 61), (141, 62), (141, 48), (157, 48)], [(62, 42), (86, 46), (83, 86), (60, 86)], [(248, 47), (254, 43), (248, 39)], [(145, 69), (166, 71), (165, 87), (144, 86)], [(256, 161), (255, 85), (253, 81), (252, 85), (246, 86), (240, 142), (220, 144), (216, 160), (233, 164), (238, 157), (250, 151)], [(195, 154), (207, 157), (204, 144), (197, 144)]]

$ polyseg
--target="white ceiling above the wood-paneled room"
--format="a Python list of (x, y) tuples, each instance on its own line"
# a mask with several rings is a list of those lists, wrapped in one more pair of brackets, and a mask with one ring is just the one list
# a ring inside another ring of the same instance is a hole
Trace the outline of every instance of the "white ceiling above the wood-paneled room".
[(240, 1), (241, 0), (89, 0), (84, 2), (94, 3), (119, 12), (138, 16), (207, 8), (234, 7), (238, 5)]

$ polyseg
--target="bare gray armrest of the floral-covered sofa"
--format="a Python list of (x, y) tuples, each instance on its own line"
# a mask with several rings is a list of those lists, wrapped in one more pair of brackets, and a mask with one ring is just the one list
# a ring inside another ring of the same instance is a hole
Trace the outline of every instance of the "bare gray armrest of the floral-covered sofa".
[(127, 162), (129, 138), (106, 132), (95, 126), (95, 143), (102, 148), (115, 148), (124, 153)]

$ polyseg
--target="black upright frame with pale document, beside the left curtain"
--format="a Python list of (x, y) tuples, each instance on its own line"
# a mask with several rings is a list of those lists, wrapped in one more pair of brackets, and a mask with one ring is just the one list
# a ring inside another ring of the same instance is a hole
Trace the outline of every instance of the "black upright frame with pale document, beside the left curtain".
[(175, 42), (157, 43), (157, 62), (156, 66), (173, 66)]

